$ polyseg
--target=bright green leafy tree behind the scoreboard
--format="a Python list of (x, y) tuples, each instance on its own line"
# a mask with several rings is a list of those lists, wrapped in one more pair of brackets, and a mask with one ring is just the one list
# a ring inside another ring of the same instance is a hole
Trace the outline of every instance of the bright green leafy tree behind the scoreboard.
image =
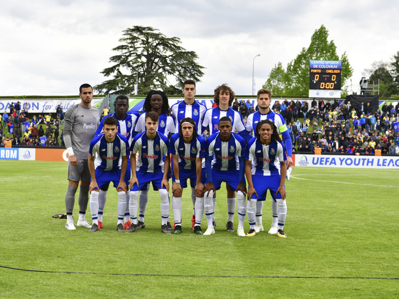
[[(328, 30), (324, 25), (315, 30), (308, 48), (303, 47), (295, 59), (290, 61), (284, 74), (284, 92), (289, 95), (307, 96), (309, 94), (309, 61), (310, 60), (341, 60), (341, 89), (352, 76), (353, 69), (344, 52), (338, 56), (334, 41), (328, 41)], [(271, 71), (275, 73), (279, 66)], [(284, 71), (284, 69), (282, 69)], [(281, 72), (281, 71), (280, 71)], [(267, 83), (266, 83), (267, 84)]]

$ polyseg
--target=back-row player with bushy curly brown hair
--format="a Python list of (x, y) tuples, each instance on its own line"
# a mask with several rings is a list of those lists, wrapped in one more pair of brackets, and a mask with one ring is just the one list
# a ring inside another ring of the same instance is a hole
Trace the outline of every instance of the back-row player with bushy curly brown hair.
[[(233, 128), (232, 132), (237, 129), (238, 134), (245, 140), (251, 140), (252, 136), (245, 130), (241, 114), (231, 108), (235, 93), (226, 84), (222, 84), (215, 88), (213, 102), (217, 105), (215, 108), (206, 110), (202, 122), (202, 132), (209, 126), (209, 134), (213, 134), (218, 130), (219, 119), (227, 116), (231, 120)], [(234, 232), (233, 220), (236, 206), (235, 191), (230, 190), (230, 186), (226, 184), (227, 189), (227, 223), (226, 228), (228, 232)], [(215, 213), (216, 192), (213, 193), (213, 213)], [(215, 214), (213, 214), (213, 226), (216, 225)]]

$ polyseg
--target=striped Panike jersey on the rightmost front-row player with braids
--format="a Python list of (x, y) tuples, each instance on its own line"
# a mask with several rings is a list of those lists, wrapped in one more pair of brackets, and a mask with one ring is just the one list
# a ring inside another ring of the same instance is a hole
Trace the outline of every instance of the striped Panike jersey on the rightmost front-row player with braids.
[(252, 161), (252, 174), (279, 175), (280, 162), (287, 159), (284, 145), (273, 140), (268, 146), (256, 141), (257, 137), (254, 137), (248, 142), (245, 156), (245, 159)]

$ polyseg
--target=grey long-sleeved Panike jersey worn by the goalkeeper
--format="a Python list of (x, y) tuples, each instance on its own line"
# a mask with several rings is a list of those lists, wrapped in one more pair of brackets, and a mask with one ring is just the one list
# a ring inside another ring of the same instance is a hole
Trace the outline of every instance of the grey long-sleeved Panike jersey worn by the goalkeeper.
[[(85, 108), (79, 103), (65, 113), (63, 129), (65, 146), (72, 147), (77, 159), (89, 157), (90, 142), (99, 122), (99, 110), (93, 106)], [(69, 136), (71, 137), (68, 138)]]

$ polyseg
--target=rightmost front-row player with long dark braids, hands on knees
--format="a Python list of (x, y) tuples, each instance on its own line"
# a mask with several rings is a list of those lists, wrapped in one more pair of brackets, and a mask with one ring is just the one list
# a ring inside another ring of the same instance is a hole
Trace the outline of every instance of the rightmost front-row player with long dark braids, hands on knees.
[[(257, 201), (266, 199), (267, 190), (277, 203), (277, 236), (286, 238), (284, 222), (287, 214), (285, 203), (286, 154), (276, 126), (271, 120), (262, 120), (256, 126), (255, 138), (247, 144), (245, 175), (248, 181), (247, 215), (250, 230), (247, 236), (255, 236)], [(252, 169), (251, 169), (252, 164)]]

